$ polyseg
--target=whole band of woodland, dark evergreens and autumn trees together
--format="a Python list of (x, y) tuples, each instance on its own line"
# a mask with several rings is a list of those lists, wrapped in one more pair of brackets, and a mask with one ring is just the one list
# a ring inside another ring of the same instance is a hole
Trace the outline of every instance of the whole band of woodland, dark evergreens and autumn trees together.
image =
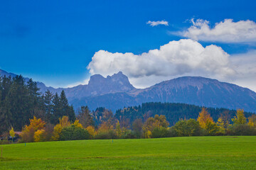
[(40, 94), (23, 77), (0, 79), (0, 135), (19, 142), (127, 139), (201, 135), (256, 135), (256, 115), (242, 110), (203, 108), (182, 103), (143, 103), (115, 114), (81, 106), (75, 115), (65, 92)]

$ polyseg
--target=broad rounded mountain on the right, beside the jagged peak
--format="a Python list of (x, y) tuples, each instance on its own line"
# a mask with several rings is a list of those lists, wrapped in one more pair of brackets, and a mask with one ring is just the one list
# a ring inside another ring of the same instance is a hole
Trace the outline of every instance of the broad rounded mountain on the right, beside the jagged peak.
[[(136, 94), (137, 93), (137, 94)], [(180, 77), (133, 93), (140, 102), (189, 103), (214, 108), (256, 111), (256, 94), (235, 84), (203, 77)]]

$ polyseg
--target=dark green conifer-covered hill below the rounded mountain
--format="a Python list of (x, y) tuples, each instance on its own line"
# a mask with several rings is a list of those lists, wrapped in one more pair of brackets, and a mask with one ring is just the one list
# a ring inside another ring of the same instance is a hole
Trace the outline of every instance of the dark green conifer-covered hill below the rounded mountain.
[[(174, 125), (181, 119), (196, 119), (198, 113), (201, 112), (202, 107), (194, 106), (184, 103), (142, 103), (142, 106), (127, 107), (119, 109), (114, 115), (119, 121), (125, 121), (132, 125), (132, 122), (136, 119), (146, 120), (154, 115), (165, 115), (166, 120), (170, 125)], [(235, 116), (235, 110), (229, 110), (226, 108), (207, 108), (208, 113), (213, 117), (214, 121), (217, 121), (221, 113), (228, 113), (230, 118)], [(252, 113), (246, 113), (245, 117), (250, 117)]]

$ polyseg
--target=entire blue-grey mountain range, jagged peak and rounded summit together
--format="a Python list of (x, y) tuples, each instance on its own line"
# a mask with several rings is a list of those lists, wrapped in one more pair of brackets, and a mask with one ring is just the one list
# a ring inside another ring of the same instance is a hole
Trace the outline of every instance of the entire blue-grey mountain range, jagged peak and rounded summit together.
[[(16, 76), (16, 74), (1, 69), (0, 75)], [(25, 80), (28, 81), (28, 78)], [(42, 93), (50, 90), (60, 94), (64, 90), (69, 103), (73, 104), (74, 108), (84, 105), (92, 110), (97, 107), (105, 107), (115, 111), (124, 106), (137, 106), (145, 102), (169, 102), (256, 111), (256, 93), (254, 91), (204, 77), (179, 77), (162, 81), (146, 89), (134, 88), (128, 77), (122, 72), (106, 78), (95, 74), (90, 77), (88, 84), (72, 88), (55, 89), (42, 82), (37, 82), (37, 84)]]

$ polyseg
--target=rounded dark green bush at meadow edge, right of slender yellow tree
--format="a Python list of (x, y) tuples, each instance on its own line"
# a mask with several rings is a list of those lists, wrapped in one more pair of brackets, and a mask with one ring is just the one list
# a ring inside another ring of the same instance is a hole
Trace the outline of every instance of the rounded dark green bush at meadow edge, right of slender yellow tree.
[(88, 140), (90, 134), (87, 130), (71, 125), (63, 128), (60, 133), (60, 140)]

